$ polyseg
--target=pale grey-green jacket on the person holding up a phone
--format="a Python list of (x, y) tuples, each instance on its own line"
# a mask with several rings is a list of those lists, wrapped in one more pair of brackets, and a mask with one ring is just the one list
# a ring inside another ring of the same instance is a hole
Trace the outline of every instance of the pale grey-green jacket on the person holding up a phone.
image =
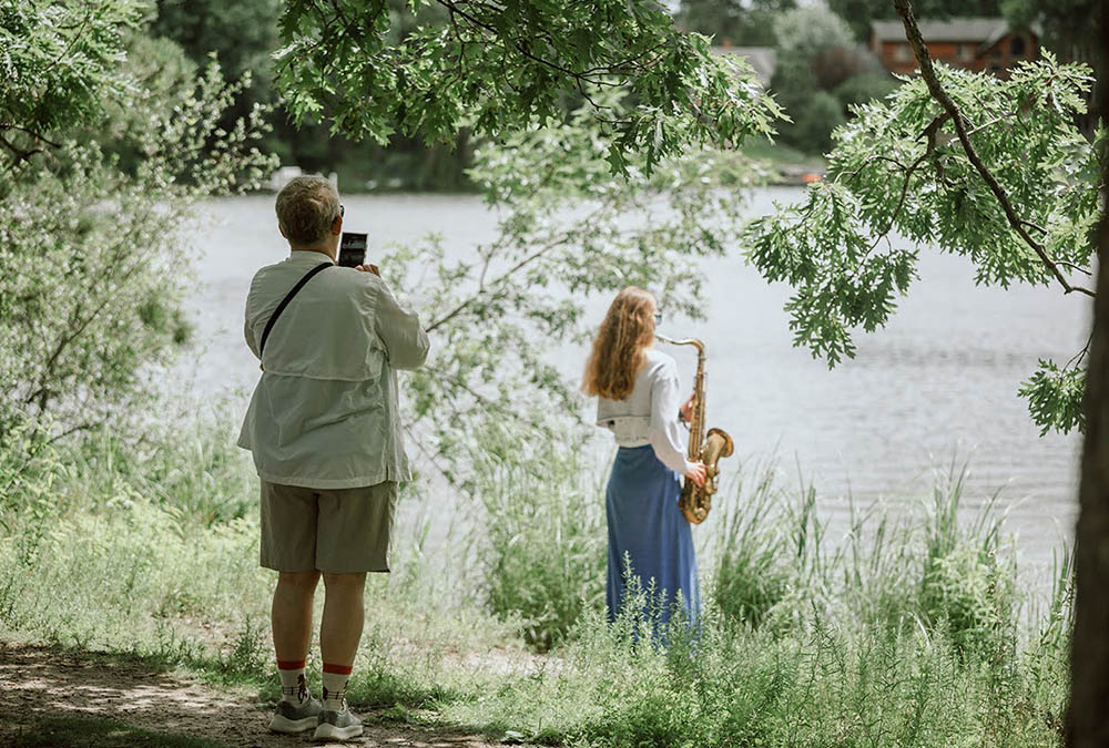
[(262, 331), (301, 277), (330, 258), (293, 252), (262, 268), (246, 297), (246, 345), (263, 365), (238, 445), (271, 483), (348, 489), (411, 474), (405, 455), (396, 369), (416, 369), (428, 339), (372, 273), (330, 267), (301, 289)]

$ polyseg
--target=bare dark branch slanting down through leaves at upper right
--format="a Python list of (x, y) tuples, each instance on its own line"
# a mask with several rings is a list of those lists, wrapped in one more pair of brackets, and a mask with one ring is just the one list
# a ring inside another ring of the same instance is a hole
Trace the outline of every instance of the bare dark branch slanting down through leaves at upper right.
[(990, 192), (994, 193), (994, 197), (997, 198), (998, 204), (1005, 212), (1005, 217), (1009, 223), (1009, 226), (1024, 239), (1031, 249), (1039, 256), (1040, 260), (1047, 266), (1055, 276), (1059, 285), (1064, 287), (1065, 293), (1079, 293), (1086, 294), (1087, 296), (1096, 297), (1097, 294), (1089, 288), (1082, 286), (1075, 286), (1067, 279), (1062, 270), (1059, 269), (1059, 264), (1056, 263), (1050, 255), (1047, 254), (1047, 249), (1042, 244), (1037, 242), (1025, 228), (1025, 222), (1021, 221), (1020, 216), (1017, 215), (1016, 209), (1013, 207), (1013, 203), (1009, 201), (1009, 196), (1006, 194), (1005, 188), (1001, 187), (997, 178), (990, 173), (986, 165), (981, 162), (978, 156), (978, 151), (974, 147), (974, 143), (970, 142), (970, 135), (967, 132), (967, 122), (963, 116), (962, 110), (952, 99), (950, 94), (944, 90), (940, 85), (939, 79), (936, 76), (936, 69), (932, 64), (932, 58), (928, 55), (928, 48), (924, 43), (924, 38), (920, 35), (920, 28), (916, 23), (916, 17), (913, 12), (913, 3), (910, 0), (894, 0), (894, 8), (897, 10), (897, 14), (901, 16), (902, 23), (905, 27), (905, 37), (908, 39), (909, 44), (913, 47), (913, 53), (916, 55), (916, 61), (920, 65), (920, 76), (924, 82), (928, 85), (928, 92), (932, 93), (932, 98), (935, 99), (940, 106), (950, 115), (952, 123), (955, 125), (955, 132), (958, 134), (959, 143), (963, 145), (963, 151), (967, 154), (967, 158), (974, 165), (978, 175), (981, 176), (983, 181), (989, 186)]

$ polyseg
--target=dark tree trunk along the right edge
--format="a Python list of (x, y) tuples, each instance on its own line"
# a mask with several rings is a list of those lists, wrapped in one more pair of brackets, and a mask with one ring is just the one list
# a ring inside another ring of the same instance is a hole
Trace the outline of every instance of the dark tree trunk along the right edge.
[[(1109, 64), (1105, 45), (1109, 0), (1098, 4), (1096, 62), (1102, 126), (1109, 124)], [(1109, 183), (1109, 158), (1103, 158)], [(1105, 191), (1102, 189), (1102, 197)], [(1086, 440), (1075, 532), (1075, 634), (1071, 641), (1071, 696), (1067, 745), (1109, 746), (1109, 211), (1102, 207), (1097, 232), (1098, 296), (1086, 378)]]

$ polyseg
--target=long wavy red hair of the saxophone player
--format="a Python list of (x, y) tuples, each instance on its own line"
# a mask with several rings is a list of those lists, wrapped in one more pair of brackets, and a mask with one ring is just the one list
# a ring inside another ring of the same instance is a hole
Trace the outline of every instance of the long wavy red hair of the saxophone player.
[(609, 400), (623, 400), (635, 387), (648, 348), (654, 340), (654, 297), (629, 286), (609, 306), (593, 350), (586, 362), (581, 389)]

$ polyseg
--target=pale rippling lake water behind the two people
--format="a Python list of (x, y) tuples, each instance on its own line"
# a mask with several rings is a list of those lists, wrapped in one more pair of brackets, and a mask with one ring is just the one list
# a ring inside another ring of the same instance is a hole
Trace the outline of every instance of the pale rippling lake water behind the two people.
[[(800, 194), (759, 191), (751, 214)], [(347, 225), (370, 230), (376, 247), (438, 232), (450, 253), (462, 254), (496, 228), (475, 196), (365, 195), (344, 203)], [(203, 286), (189, 303), (203, 342), (183, 376), (201, 393), (230, 393), (232, 407), (245, 407), (258, 369), (242, 340), (243, 301), (254, 271), (285, 256), (287, 246), (272, 195), (213, 201), (204, 214), (211, 221), (197, 243)], [(800, 465), (833, 530), (843, 525), (848, 491), (858, 504), (882, 501), (894, 511), (915, 511), (936, 472), (969, 461), (967, 505), (1000, 491), (1021, 564), (1049, 565), (1072, 535), (1081, 440), (1040, 437), (1016, 392), (1038, 358), (1062, 362), (1081, 347), (1089, 299), (1064, 297), (1055, 287), (977, 287), (968, 262), (925, 252), (920, 279), (889, 326), (859, 334), (857, 357), (830, 371), (791, 346), (782, 310), (788, 288), (766, 284), (739, 249), (702, 266), (708, 320), (668, 319), (661, 331), (706, 342), (710, 426), (732, 434), (740, 460), (776, 457), (792, 481)], [(598, 321), (607, 304), (589, 305)], [(692, 349), (667, 350), (691, 382)], [(580, 376), (584, 355), (574, 347), (559, 357), (568, 377)]]

